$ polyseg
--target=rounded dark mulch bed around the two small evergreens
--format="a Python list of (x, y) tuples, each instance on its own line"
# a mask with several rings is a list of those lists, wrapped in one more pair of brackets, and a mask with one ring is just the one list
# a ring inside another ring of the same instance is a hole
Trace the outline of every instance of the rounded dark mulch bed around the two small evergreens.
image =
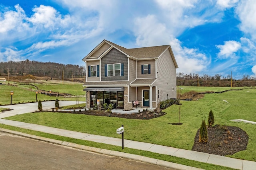
[(249, 137), (239, 127), (215, 125), (207, 130), (208, 142), (199, 142), (198, 130), (192, 150), (221, 156), (232, 155), (241, 150), (246, 150)]

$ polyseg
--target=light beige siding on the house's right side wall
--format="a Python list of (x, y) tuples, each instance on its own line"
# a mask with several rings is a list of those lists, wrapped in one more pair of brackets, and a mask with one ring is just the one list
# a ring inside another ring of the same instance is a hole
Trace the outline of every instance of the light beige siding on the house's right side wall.
[[(154, 86), (160, 90), (160, 100), (166, 100), (167, 98), (176, 98), (176, 67), (172, 60), (169, 49), (156, 60), (157, 63), (157, 79), (154, 82)], [(168, 97), (167, 97), (168, 94)]]

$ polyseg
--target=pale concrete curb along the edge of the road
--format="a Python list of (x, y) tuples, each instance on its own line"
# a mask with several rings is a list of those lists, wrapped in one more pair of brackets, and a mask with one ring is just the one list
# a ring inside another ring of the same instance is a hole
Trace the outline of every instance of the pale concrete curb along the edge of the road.
[(118, 152), (118, 151), (114, 151), (114, 150), (100, 149), (100, 148), (95, 148), (95, 147), (88, 147), (88, 146), (85, 146), (85, 145), (79, 145), (79, 144), (76, 144), (76, 143), (70, 143), (70, 142), (66, 142), (66, 141), (59, 141), (59, 140), (56, 140), (56, 139), (50, 139), (50, 138), (40, 137), (40, 136), (36, 136), (36, 135), (30, 135), (30, 134), (27, 134), (27, 133), (12, 131), (12, 130), (9, 130), (9, 129), (0, 128), (0, 132), (10, 133), (10, 134), (13, 134), (13, 135), (18, 135), (18, 136), (22, 136), (22, 137), (26, 137), (26, 138), (30, 138), (30, 139), (35, 139), (35, 140), (38, 140), (38, 141), (44, 141), (44, 142), (48, 142), (48, 143), (52, 143), (52, 144), (56, 144), (56, 145), (63, 145), (63, 146), (66, 146), (66, 147), (72, 147), (72, 148), (86, 150), (86, 151), (90, 151), (90, 152), (96, 152), (96, 153), (100, 153), (100, 154), (106, 154), (106, 155), (110, 155), (110, 156), (116, 156), (116, 157), (122, 157), (122, 158), (131, 159), (131, 160), (136, 160), (136, 161), (140, 161), (140, 162), (146, 162), (146, 163), (150, 163), (150, 164), (154, 164), (154, 165), (158, 165), (158, 166), (164, 166), (164, 167), (167, 167), (167, 168), (174, 168), (174, 169), (177, 169), (177, 170), (203, 170), (203, 169), (195, 168), (195, 167), (192, 167), (192, 166), (176, 164), (176, 163), (173, 163), (173, 162), (168, 162), (168, 161), (159, 160), (159, 159), (155, 159), (155, 158), (149, 158), (149, 157), (146, 157), (146, 156), (140, 156), (140, 155), (136, 155), (136, 154)]

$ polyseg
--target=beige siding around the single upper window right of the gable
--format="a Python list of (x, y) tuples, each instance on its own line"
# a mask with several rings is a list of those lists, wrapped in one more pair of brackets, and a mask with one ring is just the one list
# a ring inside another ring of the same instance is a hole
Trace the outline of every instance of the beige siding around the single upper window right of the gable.
[[(150, 64), (150, 74), (141, 74), (141, 65)], [(155, 78), (156, 77), (156, 61), (144, 60), (137, 61), (137, 78)]]

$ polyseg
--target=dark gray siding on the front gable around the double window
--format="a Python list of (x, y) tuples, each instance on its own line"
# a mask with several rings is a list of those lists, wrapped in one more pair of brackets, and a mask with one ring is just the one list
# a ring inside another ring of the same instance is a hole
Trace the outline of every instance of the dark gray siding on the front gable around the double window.
[[(124, 63), (124, 76), (109, 76), (105, 77), (105, 64)], [(128, 80), (128, 58), (126, 55), (117, 49), (111, 49), (101, 59), (101, 80), (102, 81), (127, 81)]]

